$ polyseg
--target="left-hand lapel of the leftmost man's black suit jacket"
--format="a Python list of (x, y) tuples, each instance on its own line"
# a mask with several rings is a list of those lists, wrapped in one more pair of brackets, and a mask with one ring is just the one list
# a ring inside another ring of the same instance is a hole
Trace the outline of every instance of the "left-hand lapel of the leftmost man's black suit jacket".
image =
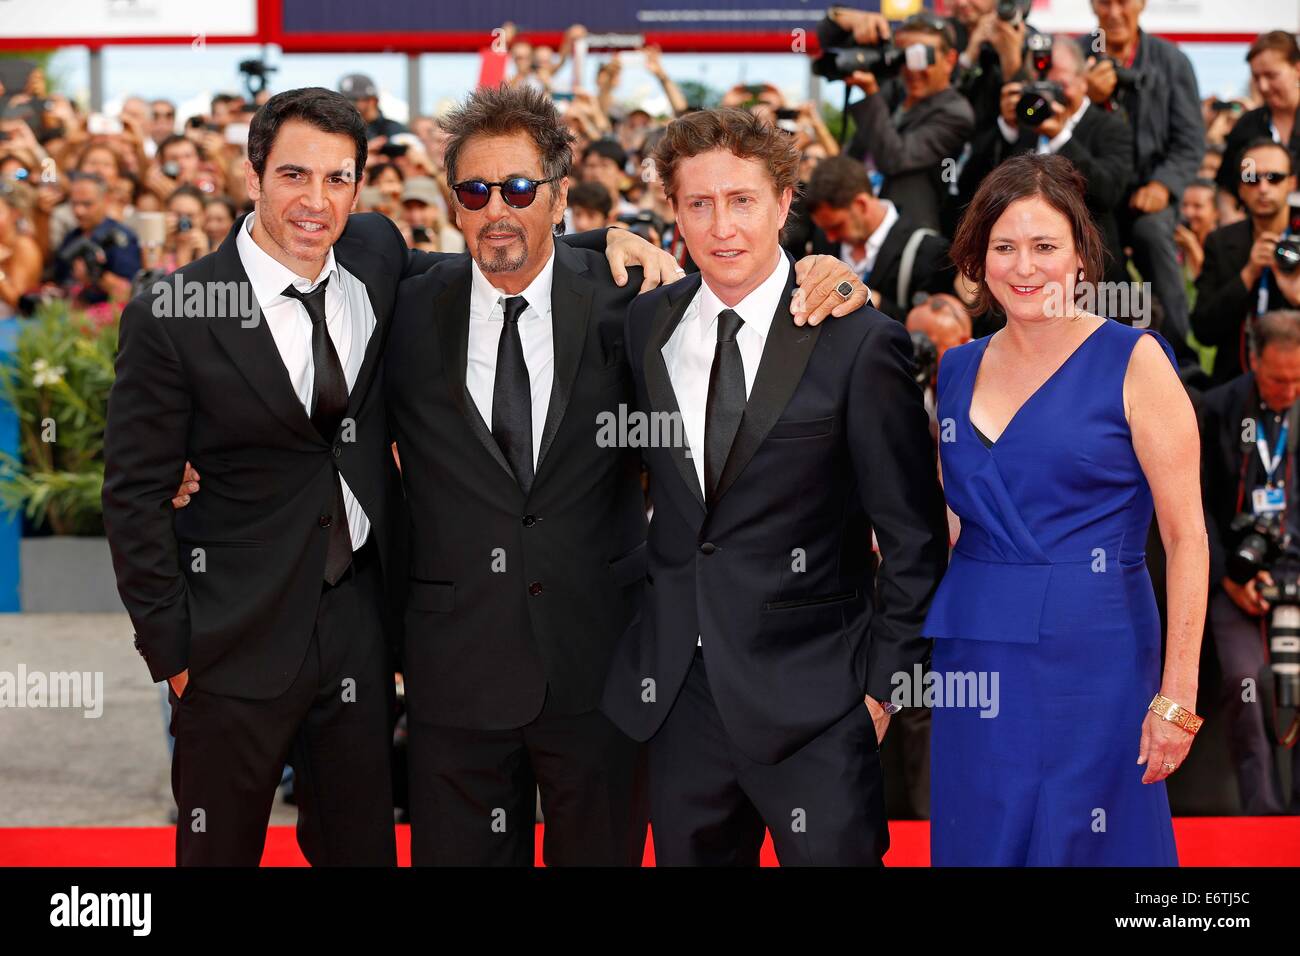
[[(237, 237), (242, 228), (243, 219), (235, 224), (235, 228), (217, 247), (213, 272), (217, 281), (233, 278), (239, 284), (238, 287), (251, 290), (252, 282), (239, 259), (237, 246)], [(234, 311), (238, 312), (238, 310)], [(285, 368), (285, 362), (280, 358), (280, 349), (276, 346), (274, 336), (270, 334), (270, 326), (261, 313), (260, 304), (256, 320), (256, 324), (248, 325), (247, 320), (239, 315), (212, 316), (209, 317), (209, 328), (217, 343), (230, 356), (235, 368), (239, 369), (239, 373), (270, 408), (272, 414), (299, 437), (316, 444), (324, 442), (320, 432), (307, 418), (303, 403), (298, 401), (298, 393), (294, 392), (294, 385), (289, 378), (289, 369)]]

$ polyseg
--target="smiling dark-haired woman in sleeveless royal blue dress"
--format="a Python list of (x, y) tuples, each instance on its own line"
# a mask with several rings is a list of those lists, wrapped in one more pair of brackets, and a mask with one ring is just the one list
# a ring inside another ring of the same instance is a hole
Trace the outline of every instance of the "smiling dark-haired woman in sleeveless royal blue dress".
[[(1017, 156), (984, 179), (953, 242), (976, 308), (1006, 326), (949, 349), (939, 373), (961, 533), (924, 630), (941, 680), (935, 865), (1178, 864), (1164, 780), (1200, 726), (1200, 441), (1169, 343), (1076, 306), (1102, 272), (1083, 195), (1069, 160)], [(1164, 670), (1144, 562), (1153, 507)], [(961, 700), (976, 685), (992, 701)]]

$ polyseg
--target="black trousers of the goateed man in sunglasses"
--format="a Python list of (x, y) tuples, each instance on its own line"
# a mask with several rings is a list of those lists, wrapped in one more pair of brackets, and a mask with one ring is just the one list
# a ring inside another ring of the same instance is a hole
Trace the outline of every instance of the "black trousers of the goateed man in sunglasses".
[(537, 795), (547, 866), (640, 866), (647, 808), (644, 747), (598, 710), (550, 698), (515, 730), (412, 723), (411, 862), (532, 866)]

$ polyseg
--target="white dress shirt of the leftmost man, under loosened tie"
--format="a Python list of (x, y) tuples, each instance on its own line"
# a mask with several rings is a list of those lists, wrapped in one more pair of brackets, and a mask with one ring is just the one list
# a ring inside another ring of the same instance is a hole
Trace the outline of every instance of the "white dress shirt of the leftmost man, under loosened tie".
[[(343, 365), (348, 393), (356, 385), (356, 376), (361, 371), (361, 360), (365, 358), (365, 345), (374, 332), (374, 308), (370, 306), (365, 285), (334, 260), (333, 248), (325, 258), (325, 268), (321, 269), (321, 274), (307, 281), (287, 265), (276, 261), (254, 241), (252, 221), (254, 216), (248, 216), (244, 220), (244, 228), (235, 238), (239, 261), (243, 263), (244, 272), (248, 273), (252, 293), (257, 297), (257, 306), (261, 308), (261, 317), (270, 329), (272, 338), (276, 339), (276, 347), (285, 363), (289, 381), (298, 394), (298, 401), (311, 415), (312, 392), (316, 388), (316, 365), (312, 363), (312, 320), (307, 313), (307, 306), (298, 299), (283, 295), (285, 289), (292, 285), (298, 291), (306, 293), (315, 289), (326, 276), (330, 277), (329, 285), (325, 286), (325, 329), (334, 342), (339, 364)], [(370, 519), (367, 518), (343, 476), (338, 477), (343, 485), (347, 531), (352, 537), (352, 550), (356, 550), (365, 544), (365, 538), (370, 533)]]

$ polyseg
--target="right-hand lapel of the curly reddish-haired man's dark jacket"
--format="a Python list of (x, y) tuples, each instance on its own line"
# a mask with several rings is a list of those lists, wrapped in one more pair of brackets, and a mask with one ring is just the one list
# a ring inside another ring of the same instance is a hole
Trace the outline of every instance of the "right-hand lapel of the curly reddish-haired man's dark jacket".
[[(894, 226), (897, 229), (897, 225)], [(890, 233), (890, 237), (893, 233)], [(884, 251), (884, 250), (881, 250)], [(772, 316), (772, 326), (767, 330), (767, 342), (763, 343), (763, 358), (758, 363), (758, 375), (754, 378), (754, 388), (750, 390), (749, 401), (745, 403), (745, 414), (740, 420), (740, 429), (732, 442), (731, 454), (727, 455), (727, 464), (723, 466), (722, 477), (718, 479), (718, 497), (714, 507), (727, 490), (736, 483), (745, 466), (758, 451), (772, 425), (785, 411), (790, 395), (798, 388), (807, 368), (812, 347), (816, 345), (822, 326), (796, 325), (790, 315), (790, 294), (794, 291), (794, 265), (790, 264), (790, 274), (785, 282), (785, 291), (776, 306)], [(831, 319), (829, 321), (836, 321)]]

